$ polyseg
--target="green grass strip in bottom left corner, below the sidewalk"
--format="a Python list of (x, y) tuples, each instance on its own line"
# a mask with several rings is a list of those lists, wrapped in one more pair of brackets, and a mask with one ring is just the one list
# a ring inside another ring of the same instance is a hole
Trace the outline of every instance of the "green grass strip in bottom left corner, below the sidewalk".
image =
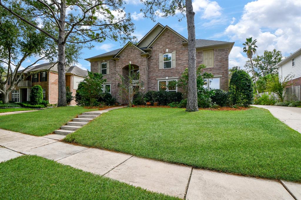
[(0, 199), (178, 199), (38, 156), (0, 163)]

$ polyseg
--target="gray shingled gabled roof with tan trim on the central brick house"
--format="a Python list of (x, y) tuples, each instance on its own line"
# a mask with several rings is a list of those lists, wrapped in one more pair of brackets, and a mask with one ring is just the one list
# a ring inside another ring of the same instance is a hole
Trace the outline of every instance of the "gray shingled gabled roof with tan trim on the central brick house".
[[(160, 30), (156, 30), (156, 29), (162, 29), (161, 31)], [(161, 35), (166, 31), (166, 30), (169, 30), (171, 31), (172, 33), (174, 33), (176, 36), (178, 36), (179, 38), (182, 39), (183, 41), (183, 45), (184, 44), (188, 44), (188, 39), (185, 38), (184, 36), (182, 36), (181, 34), (179, 34), (178, 32), (176, 32), (175, 30), (173, 30), (172, 28), (170, 28), (169, 26), (163, 26), (162, 24), (160, 23), (157, 23), (149, 32), (147, 32), (146, 35), (144, 35), (144, 37), (137, 43), (137, 44), (133, 44), (132, 42), (128, 42), (123, 48), (119, 48), (119, 49), (115, 49), (113, 51), (109, 51), (107, 53), (102, 53), (102, 54), (99, 54), (97, 56), (93, 56), (91, 58), (86, 58), (85, 60), (88, 60), (91, 62), (91, 60), (99, 60), (101, 58), (116, 58), (118, 57), (125, 49), (126, 47), (131, 44), (133, 45), (135, 48), (137, 48), (138, 50), (141, 51), (141, 55), (143, 53), (146, 53), (144, 51), (144, 49), (149, 49), (151, 48), (154, 43), (161, 37)], [(160, 32), (159, 32), (160, 31)], [(157, 32), (159, 32), (157, 34)], [(150, 36), (151, 34), (153, 33), (152, 36)], [(154, 35), (156, 35), (154, 37)], [(154, 39), (153, 39), (154, 37)], [(148, 41), (147, 39), (153, 39), (149, 44), (148, 44)], [(144, 42), (144, 41), (147, 41), (147, 42)], [(148, 44), (147, 47), (139, 47), (139, 44), (142, 44), (143, 43), (143, 46), (144, 44)], [(229, 53), (234, 45), (234, 42), (225, 42), (225, 41), (215, 41), (215, 40), (204, 40), (204, 39), (196, 39), (196, 48), (206, 48), (206, 47), (215, 47), (215, 46), (220, 46), (220, 45), (229, 45)], [(147, 51), (147, 50), (146, 50)]]

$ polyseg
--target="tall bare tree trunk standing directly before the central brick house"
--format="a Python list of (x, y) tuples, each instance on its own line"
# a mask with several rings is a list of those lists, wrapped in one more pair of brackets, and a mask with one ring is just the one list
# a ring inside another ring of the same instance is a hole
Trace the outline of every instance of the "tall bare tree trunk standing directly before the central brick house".
[(186, 111), (193, 112), (198, 111), (194, 11), (191, 0), (186, 0), (185, 5), (188, 28), (188, 96)]

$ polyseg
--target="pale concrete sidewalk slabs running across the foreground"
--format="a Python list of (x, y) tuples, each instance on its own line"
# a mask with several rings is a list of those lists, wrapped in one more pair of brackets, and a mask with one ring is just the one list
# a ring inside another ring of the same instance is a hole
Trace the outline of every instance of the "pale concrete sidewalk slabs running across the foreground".
[(301, 199), (301, 184), (191, 168), (0, 129), (0, 162), (38, 155), (144, 189), (186, 199)]

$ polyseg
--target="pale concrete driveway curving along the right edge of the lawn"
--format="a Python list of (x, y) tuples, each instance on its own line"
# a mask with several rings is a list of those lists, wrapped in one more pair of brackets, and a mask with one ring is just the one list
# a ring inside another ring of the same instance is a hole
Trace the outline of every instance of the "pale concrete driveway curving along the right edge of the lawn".
[(285, 123), (287, 126), (301, 133), (301, 108), (286, 106), (252, 105), (258, 108), (265, 108), (274, 117)]

